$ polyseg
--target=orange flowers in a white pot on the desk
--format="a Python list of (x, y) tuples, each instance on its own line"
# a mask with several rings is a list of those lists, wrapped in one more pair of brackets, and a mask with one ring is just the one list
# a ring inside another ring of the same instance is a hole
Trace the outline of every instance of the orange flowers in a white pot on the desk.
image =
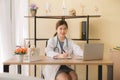
[(25, 47), (17, 47), (15, 49), (14, 54), (17, 56), (17, 60), (19, 62), (22, 62), (24, 55), (27, 54), (27, 48), (25, 48)]

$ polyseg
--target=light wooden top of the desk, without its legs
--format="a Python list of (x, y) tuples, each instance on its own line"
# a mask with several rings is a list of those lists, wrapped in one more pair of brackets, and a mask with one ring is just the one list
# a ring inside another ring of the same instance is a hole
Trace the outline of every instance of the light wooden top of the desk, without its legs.
[(36, 60), (36, 61), (31, 61), (31, 62), (27, 62), (27, 61), (23, 61), (23, 62), (18, 62), (16, 57), (13, 57), (9, 60), (6, 60), (4, 63), (4, 65), (11, 65), (11, 64), (20, 64), (20, 65), (57, 65), (57, 64), (76, 64), (76, 65), (113, 65), (113, 62), (109, 59), (103, 59), (103, 60), (92, 60), (92, 61), (83, 61), (81, 59), (78, 58), (71, 58), (71, 59), (53, 59), (50, 57), (46, 57), (46, 56), (40, 56), (40, 60)]

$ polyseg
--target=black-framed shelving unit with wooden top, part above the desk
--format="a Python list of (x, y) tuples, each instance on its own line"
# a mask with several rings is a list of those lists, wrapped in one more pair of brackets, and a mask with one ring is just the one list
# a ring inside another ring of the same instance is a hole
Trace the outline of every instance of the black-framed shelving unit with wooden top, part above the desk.
[[(100, 39), (89, 39), (89, 18), (95, 18), (95, 17), (101, 17), (101, 15), (79, 15), (79, 16), (34, 16), (34, 17), (31, 17), (31, 16), (25, 16), (25, 17), (28, 17), (28, 18), (34, 18), (34, 45), (36, 46), (36, 41), (38, 40), (47, 40), (47, 39), (38, 39), (36, 37), (37, 33), (36, 33), (36, 29), (37, 29), (37, 26), (36, 26), (36, 21), (37, 21), (37, 18), (43, 18), (43, 19), (62, 19), (62, 20), (65, 20), (65, 19), (75, 19), (75, 18), (86, 18), (87, 20), (87, 35), (86, 35), (86, 41), (87, 43), (89, 43), (89, 40), (100, 40)], [(73, 39), (73, 40), (83, 40), (83, 39)]]

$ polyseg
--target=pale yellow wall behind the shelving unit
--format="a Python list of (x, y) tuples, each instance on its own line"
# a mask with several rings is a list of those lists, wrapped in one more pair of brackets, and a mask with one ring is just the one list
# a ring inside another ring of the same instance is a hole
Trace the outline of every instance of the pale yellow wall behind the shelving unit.
[[(45, 3), (48, 1), (51, 5), (50, 15), (61, 15), (62, 0), (30, 0), (30, 3), (36, 3), (39, 6), (37, 16), (45, 15)], [(90, 19), (90, 38), (100, 38), (100, 41), (91, 42), (103, 42), (105, 44), (104, 57), (109, 57), (109, 49), (120, 45), (120, 0), (65, 0), (67, 10), (75, 8), (77, 15), (82, 14), (81, 4), (85, 5), (84, 14), (101, 14), (100, 18)], [(96, 7), (98, 12), (95, 11)], [(30, 15), (30, 14), (29, 14)], [(67, 20), (69, 24), (69, 37), (80, 38), (80, 22), (84, 19)], [(33, 19), (30, 19), (30, 36), (33, 37)], [(56, 20), (40, 19), (37, 22), (37, 37), (49, 38), (55, 33)], [(48, 28), (49, 27), (49, 28)], [(78, 42), (80, 43), (80, 42)], [(45, 43), (38, 43), (41, 47), (41, 54), (44, 53)], [(92, 68), (91, 73), (96, 73), (97, 67), (90, 66)], [(78, 71), (80, 73), (79, 79), (85, 80), (84, 66), (79, 66)], [(93, 69), (96, 69), (95, 71)], [(81, 71), (83, 73), (81, 73)], [(82, 76), (81, 76), (82, 75)], [(97, 80), (97, 77), (89, 75), (90, 80)], [(103, 70), (103, 80), (106, 80), (106, 66)]]

